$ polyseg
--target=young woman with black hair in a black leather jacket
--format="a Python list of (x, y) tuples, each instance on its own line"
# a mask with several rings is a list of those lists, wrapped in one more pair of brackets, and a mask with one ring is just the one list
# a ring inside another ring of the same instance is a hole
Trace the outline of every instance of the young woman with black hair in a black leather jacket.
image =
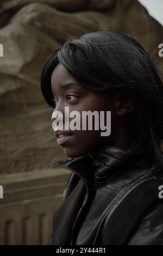
[(52, 122), (60, 111), (65, 123), (65, 107), (81, 122), (111, 111), (109, 136), (89, 120), (55, 131), (67, 159), (53, 163), (72, 173), (48, 245), (163, 245), (163, 87), (145, 49), (120, 32), (68, 40), (43, 66), (41, 89)]

